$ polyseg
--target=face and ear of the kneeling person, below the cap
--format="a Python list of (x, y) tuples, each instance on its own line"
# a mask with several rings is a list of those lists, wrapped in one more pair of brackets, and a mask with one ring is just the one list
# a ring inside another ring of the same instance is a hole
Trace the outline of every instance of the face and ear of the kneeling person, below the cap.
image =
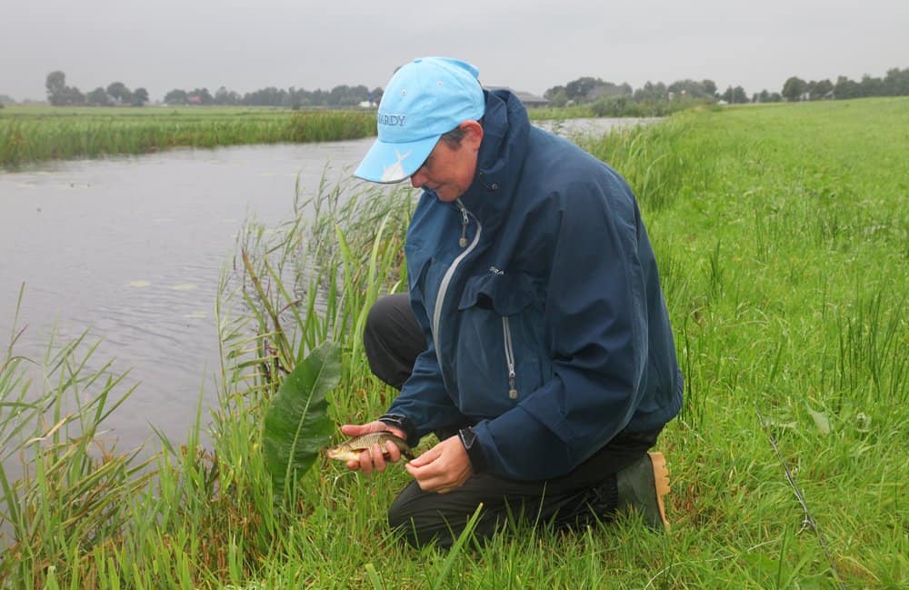
[[(482, 131), (480, 138), (482, 139)], [(411, 185), (435, 191), (439, 200), (445, 203), (454, 201), (464, 195), (474, 182), (478, 149), (479, 140), (473, 130), (464, 136), (457, 147), (440, 139), (423, 165), (411, 175)]]

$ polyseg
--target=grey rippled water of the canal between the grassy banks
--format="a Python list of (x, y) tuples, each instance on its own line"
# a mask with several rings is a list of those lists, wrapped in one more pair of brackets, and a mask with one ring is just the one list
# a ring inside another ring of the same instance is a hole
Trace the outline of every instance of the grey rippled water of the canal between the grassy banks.
[[(636, 123), (570, 121), (556, 131)], [(115, 359), (115, 373), (129, 370), (120, 391), (138, 384), (106, 422), (120, 450), (155, 445), (151, 425), (183, 442), (200, 394), (205, 406), (216, 401), (215, 294), (238, 230), (250, 216), (285, 219), (297, 175), (303, 195), (324, 173), (330, 184), (349, 181), (372, 142), (175, 150), (0, 173), (0, 345), (25, 283), (17, 354), (40, 360), (53, 332), (62, 344), (89, 330), (102, 339), (93, 365)]]

